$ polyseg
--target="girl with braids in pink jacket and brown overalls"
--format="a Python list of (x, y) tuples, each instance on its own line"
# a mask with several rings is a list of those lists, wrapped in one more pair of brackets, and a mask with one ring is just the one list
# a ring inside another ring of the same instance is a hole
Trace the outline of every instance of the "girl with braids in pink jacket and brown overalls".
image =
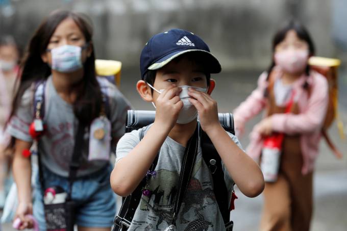
[[(309, 230), (313, 210), (312, 174), (328, 105), (328, 83), (310, 70), (315, 49), (302, 24), (289, 21), (272, 40), (272, 61), (258, 87), (234, 111), (240, 133), (265, 109), (246, 153), (259, 159), (264, 137), (283, 133), (277, 181), (265, 183), (260, 230)], [(293, 95), (292, 95), (293, 94)], [(290, 113), (284, 113), (292, 98)]]

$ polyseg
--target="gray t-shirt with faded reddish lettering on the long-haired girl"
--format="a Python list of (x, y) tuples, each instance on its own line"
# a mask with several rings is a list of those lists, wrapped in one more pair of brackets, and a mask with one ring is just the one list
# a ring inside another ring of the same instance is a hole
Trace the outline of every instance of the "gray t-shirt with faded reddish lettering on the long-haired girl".
[[(106, 87), (109, 99), (111, 137), (119, 139), (125, 133), (125, 121), (127, 110), (131, 108), (130, 103), (106, 79), (98, 78), (98, 81), (102, 81), (102, 86)], [(29, 135), (29, 126), (33, 121), (34, 111), (33, 94), (33, 87), (28, 88), (24, 92), (21, 104), (12, 117), (7, 130), (11, 136), (27, 142), (33, 141)], [(42, 164), (52, 172), (66, 177), (68, 176), (69, 162), (73, 146), (75, 145), (78, 119), (73, 113), (73, 106), (58, 95), (51, 77), (48, 78), (45, 88), (45, 114), (43, 121), (47, 125), (47, 129), (38, 146)], [(78, 176), (100, 170), (107, 163), (106, 161), (88, 161), (89, 129), (86, 130), (88, 131), (86, 131), (84, 136)]]

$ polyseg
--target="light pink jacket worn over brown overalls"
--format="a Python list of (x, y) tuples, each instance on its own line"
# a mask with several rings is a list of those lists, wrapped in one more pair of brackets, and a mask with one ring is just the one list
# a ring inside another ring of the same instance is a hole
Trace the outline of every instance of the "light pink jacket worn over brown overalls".
[[(260, 113), (266, 106), (267, 100), (264, 97), (264, 90), (267, 87), (267, 73), (260, 75), (258, 87), (250, 96), (237, 107), (233, 114), (236, 128), (243, 130), (245, 122)], [(281, 78), (280, 70), (275, 79)], [(308, 91), (302, 86), (307, 79), (310, 85), (310, 97)], [(285, 134), (301, 134), (301, 150), (303, 153), (304, 165), (302, 174), (311, 172), (318, 155), (318, 144), (320, 140), (321, 127), (323, 125), (328, 106), (328, 82), (326, 78), (315, 71), (310, 72), (310, 76), (301, 76), (293, 83), (295, 90), (295, 101), (298, 103), (300, 114), (274, 114), (270, 116), (272, 130)], [(259, 133), (254, 130), (250, 134), (250, 144), (246, 153), (253, 159), (258, 160), (261, 154), (263, 140)]]

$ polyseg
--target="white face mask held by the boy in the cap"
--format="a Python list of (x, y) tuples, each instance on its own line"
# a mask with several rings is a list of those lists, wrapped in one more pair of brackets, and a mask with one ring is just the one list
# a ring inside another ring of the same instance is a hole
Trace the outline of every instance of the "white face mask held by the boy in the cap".
[[(161, 92), (164, 91), (164, 89), (160, 89), (158, 91), (151, 84), (148, 84), (148, 86), (150, 86), (153, 90), (155, 90), (159, 94), (161, 94)], [(182, 91), (180, 92), (179, 96), (180, 96), (180, 99), (183, 101), (183, 108), (181, 109), (181, 112), (180, 112), (176, 122), (180, 123), (180, 124), (186, 124), (186, 123), (189, 123), (189, 122), (193, 121), (197, 117), (196, 108), (189, 101), (190, 96), (188, 95), (188, 92), (189, 92), (188, 89), (189, 88), (194, 88), (195, 90), (201, 91), (201, 92), (207, 92), (207, 89), (206, 88), (201, 88), (201, 87), (186, 86), (186, 85), (179, 86), (179, 88), (182, 88)], [(156, 106), (154, 105), (154, 102), (152, 102), (152, 104), (156, 108)]]

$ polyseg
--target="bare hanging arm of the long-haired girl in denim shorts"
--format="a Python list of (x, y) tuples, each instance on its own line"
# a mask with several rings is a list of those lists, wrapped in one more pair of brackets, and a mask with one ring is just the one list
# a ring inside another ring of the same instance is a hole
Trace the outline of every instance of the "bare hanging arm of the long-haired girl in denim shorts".
[(23, 157), (22, 152), (24, 149), (29, 149), (31, 143), (16, 139), (15, 152), (12, 164), (12, 171), (14, 180), (18, 189), (18, 207), (16, 217), (22, 221), (20, 228), (32, 228), (33, 223), (31, 219), (25, 215), (33, 214), (33, 204), (31, 195), (31, 162), (30, 158)]

